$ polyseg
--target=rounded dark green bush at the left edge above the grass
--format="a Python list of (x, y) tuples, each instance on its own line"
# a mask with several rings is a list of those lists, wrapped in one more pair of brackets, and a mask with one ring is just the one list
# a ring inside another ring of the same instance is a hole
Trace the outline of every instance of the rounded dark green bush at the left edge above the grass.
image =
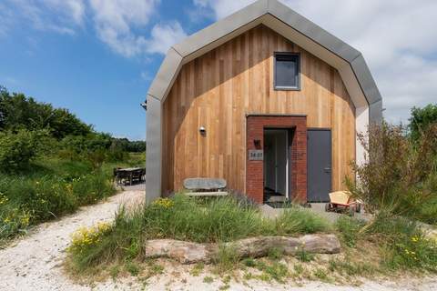
[(22, 129), (0, 132), (0, 170), (14, 172), (30, 166), (43, 146), (44, 131), (30, 132)]

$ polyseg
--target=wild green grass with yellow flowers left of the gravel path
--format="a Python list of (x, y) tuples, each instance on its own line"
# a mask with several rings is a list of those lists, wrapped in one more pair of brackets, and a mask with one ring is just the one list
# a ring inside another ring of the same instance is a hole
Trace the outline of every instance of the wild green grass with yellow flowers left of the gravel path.
[[(127, 164), (139, 165), (143, 160), (136, 154)], [(107, 163), (96, 169), (87, 161), (53, 156), (36, 160), (25, 173), (1, 174), (0, 247), (30, 226), (113, 195), (114, 166)]]

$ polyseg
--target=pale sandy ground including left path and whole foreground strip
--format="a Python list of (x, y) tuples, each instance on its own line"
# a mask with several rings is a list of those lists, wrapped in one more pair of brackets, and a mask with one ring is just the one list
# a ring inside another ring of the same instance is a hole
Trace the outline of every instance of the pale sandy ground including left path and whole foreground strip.
[[(92, 226), (99, 221), (111, 220), (118, 207), (142, 201), (144, 191), (129, 190), (112, 196), (106, 202), (81, 208), (76, 214), (37, 226), (14, 245), (0, 250), (0, 290), (219, 290), (226, 286), (214, 277), (212, 283), (204, 283), (208, 275), (189, 275), (191, 266), (165, 264), (165, 273), (153, 276), (142, 283), (137, 278), (125, 277), (82, 286), (67, 278), (62, 263), (70, 236), (80, 226)], [(242, 283), (231, 280), (229, 290), (437, 290), (437, 277), (405, 278), (396, 282), (362, 281), (361, 286), (335, 286), (320, 282), (265, 283), (250, 280)]]

